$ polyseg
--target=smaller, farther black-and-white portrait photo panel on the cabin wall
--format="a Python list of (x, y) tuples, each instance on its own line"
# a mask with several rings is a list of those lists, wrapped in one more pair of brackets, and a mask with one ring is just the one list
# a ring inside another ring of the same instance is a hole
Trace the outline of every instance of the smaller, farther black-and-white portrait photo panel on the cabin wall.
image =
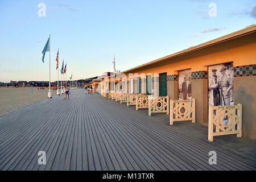
[(191, 99), (191, 69), (179, 71), (179, 100)]

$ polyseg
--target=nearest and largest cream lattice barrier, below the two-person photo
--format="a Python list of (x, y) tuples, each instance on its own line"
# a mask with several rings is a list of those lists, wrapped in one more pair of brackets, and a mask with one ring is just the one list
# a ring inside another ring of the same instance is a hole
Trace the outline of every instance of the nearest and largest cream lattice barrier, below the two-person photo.
[(237, 134), (242, 137), (242, 105), (209, 106), (208, 140), (214, 136)]

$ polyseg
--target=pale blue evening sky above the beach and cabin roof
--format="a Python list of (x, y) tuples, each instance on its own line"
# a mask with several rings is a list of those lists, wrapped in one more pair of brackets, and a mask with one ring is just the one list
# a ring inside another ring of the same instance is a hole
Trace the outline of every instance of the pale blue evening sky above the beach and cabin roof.
[(0, 0), (0, 24), (0, 82), (49, 80), (49, 34), (51, 80), (58, 48), (78, 80), (113, 72), (114, 55), (125, 71), (256, 24), (256, 0)]

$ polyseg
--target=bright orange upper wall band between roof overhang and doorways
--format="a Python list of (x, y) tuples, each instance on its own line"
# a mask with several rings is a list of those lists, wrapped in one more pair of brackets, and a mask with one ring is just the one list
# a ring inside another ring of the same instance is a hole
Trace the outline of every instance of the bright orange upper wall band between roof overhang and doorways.
[(186, 57), (184, 56), (183, 60), (177, 61), (175, 63), (171, 63), (172, 59), (170, 59), (169, 63), (162, 63), (162, 65), (160, 63), (154, 64), (150, 67), (138, 69), (130, 73), (154, 74), (167, 72), (167, 75), (177, 75), (177, 72), (183, 69), (191, 68), (192, 72), (207, 71), (209, 65), (223, 64), (232, 61), (234, 63), (234, 67), (240, 65), (255, 64), (256, 42), (247, 44), (245, 46), (226, 49), (220, 52), (214, 52), (189, 59), (186, 59)]

